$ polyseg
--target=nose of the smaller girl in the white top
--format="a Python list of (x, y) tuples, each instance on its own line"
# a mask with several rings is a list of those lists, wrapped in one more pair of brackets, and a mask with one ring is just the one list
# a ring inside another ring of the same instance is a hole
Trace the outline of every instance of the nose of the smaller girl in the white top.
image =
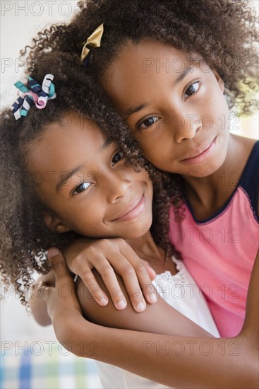
[(124, 175), (116, 173), (112, 175), (109, 182), (107, 182), (107, 199), (109, 204), (114, 204), (124, 197), (131, 188), (131, 185), (131, 180), (126, 178)]

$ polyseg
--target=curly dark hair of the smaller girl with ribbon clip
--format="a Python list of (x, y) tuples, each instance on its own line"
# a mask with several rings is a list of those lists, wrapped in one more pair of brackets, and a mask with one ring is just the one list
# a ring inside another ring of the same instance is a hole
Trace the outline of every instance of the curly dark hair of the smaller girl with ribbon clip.
[(56, 50), (46, 53), (40, 58), (33, 78), (41, 84), (49, 73), (54, 75), (57, 95), (48, 101), (46, 108), (38, 110), (33, 105), (28, 116), (17, 121), (10, 108), (1, 112), (0, 270), (3, 281), (15, 286), (24, 305), (28, 305), (32, 272), (45, 274), (50, 269), (44, 252), (52, 245), (65, 248), (79, 237), (74, 232), (59, 234), (47, 228), (43, 219), (44, 204), (35, 194), (37, 179), (27, 173), (30, 144), (37, 141), (49, 124), (59, 122), (68, 112), (78, 112), (121, 146), (127, 163), (147, 170), (154, 182), (151, 232), (166, 255), (171, 250), (167, 238), (170, 197), (179, 202), (169, 175), (160, 173), (145, 161), (124, 120), (114, 111), (102, 88), (82, 69), (78, 58)]

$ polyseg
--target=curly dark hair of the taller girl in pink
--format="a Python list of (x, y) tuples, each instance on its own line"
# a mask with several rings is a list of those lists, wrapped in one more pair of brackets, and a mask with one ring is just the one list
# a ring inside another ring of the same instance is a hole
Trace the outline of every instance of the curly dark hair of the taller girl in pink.
[[(29, 71), (49, 49), (80, 55), (86, 38), (104, 23), (102, 45), (88, 72), (102, 79), (128, 42), (151, 38), (200, 54), (222, 77), (229, 108), (250, 114), (257, 106), (258, 18), (248, 0), (85, 0), (68, 25), (52, 25), (33, 40)], [(28, 54), (30, 46), (23, 54)]]

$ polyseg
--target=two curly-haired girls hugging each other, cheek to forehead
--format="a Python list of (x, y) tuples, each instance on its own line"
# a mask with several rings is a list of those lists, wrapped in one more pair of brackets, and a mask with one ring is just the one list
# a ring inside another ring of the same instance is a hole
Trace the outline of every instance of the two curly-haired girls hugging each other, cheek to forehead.
[(257, 107), (249, 2), (79, 6), (1, 113), (2, 278), (97, 342), (104, 388), (258, 388), (259, 142), (229, 132)]

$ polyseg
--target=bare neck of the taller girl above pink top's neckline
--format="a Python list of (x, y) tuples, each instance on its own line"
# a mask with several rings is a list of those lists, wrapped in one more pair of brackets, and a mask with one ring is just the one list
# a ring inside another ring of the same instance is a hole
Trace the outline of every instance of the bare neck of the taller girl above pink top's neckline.
[(197, 219), (212, 216), (227, 202), (239, 182), (254, 142), (231, 134), (225, 161), (215, 173), (206, 178), (183, 176), (184, 191)]

